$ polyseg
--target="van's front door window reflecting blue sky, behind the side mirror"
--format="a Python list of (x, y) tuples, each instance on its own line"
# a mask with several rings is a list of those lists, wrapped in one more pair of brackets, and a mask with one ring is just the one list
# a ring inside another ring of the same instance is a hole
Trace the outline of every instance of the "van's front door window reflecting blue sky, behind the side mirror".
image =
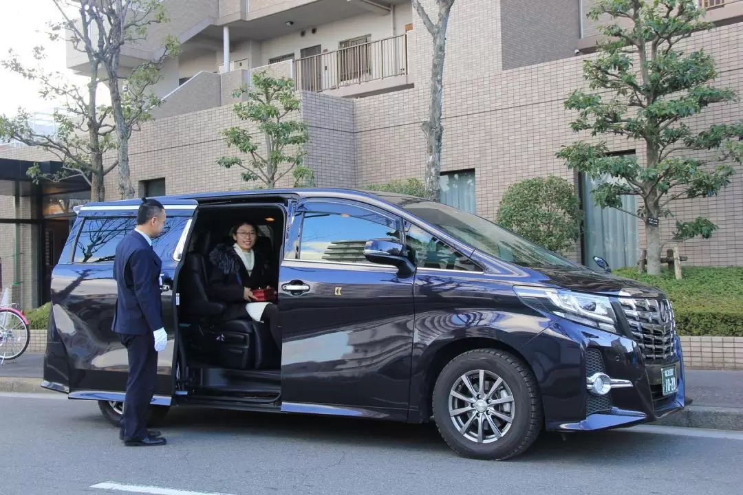
[(399, 242), (395, 223), (379, 214), (305, 213), (299, 259), (369, 263), (364, 246), (371, 239)]

